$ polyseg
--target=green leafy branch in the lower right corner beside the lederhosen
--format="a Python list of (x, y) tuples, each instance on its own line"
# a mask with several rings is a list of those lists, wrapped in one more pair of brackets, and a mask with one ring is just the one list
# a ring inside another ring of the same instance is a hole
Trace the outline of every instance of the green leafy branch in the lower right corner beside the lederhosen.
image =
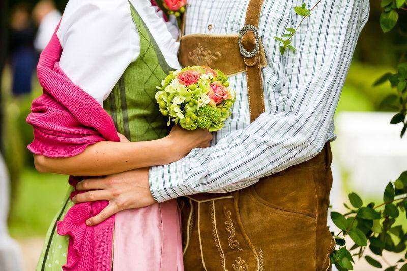
[[(394, 225), (400, 213), (405, 213), (407, 208), (407, 171), (403, 172), (394, 182), (389, 182), (383, 194), (383, 203), (375, 206), (373, 202), (363, 205), (362, 199), (354, 192), (349, 194), (351, 207), (344, 203), (350, 210), (346, 214), (331, 212), (334, 224), (341, 230), (332, 235), (336, 241), (336, 248), (331, 254), (331, 261), (338, 270), (353, 270), (354, 257), (361, 258), (366, 247), (377, 256), (382, 257), (387, 263), (386, 271), (407, 270), (407, 253), (393, 265), (383, 257), (384, 250), (400, 253), (405, 251), (407, 233), (402, 225)], [(407, 213), (406, 215), (407, 216)], [(354, 242), (348, 249), (345, 237)], [(352, 253), (353, 254), (352, 254)], [(365, 260), (376, 268), (383, 268), (382, 264), (370, 256)]]

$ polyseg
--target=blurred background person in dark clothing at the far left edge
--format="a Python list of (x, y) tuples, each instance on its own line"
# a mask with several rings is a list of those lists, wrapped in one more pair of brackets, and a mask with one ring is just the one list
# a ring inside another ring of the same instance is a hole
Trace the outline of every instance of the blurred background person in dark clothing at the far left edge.
[(9, 32), (12, 93), (15, 96), (31, 92), (31, 77), (36, 66), (34, 36), (28, 5), (16, 4), (11, 11)]

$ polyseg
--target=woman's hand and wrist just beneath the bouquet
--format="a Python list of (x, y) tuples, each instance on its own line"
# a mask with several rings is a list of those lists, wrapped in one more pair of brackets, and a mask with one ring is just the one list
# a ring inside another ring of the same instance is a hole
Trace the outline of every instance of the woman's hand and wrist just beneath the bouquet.
[(164, 138), (169, 148), (166, 152), (167, 163), (180, 160), (194, 148), (206, 148), (211, 145), (212, 133), (206, 129), (188, 131), (175, 125), (171, 132)]

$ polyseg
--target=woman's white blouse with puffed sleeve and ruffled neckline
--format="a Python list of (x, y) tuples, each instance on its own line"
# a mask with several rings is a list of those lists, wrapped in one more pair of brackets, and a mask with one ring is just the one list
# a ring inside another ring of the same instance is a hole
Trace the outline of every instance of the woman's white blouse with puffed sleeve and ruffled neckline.
[[(168, 65), (181, 68), (176, 24), (165, 22), (162, 11), (149, 0), (130, 2)], [(128, 0), (70, 0), (56, 34), (63, 48), (61, 69), (101, 105), (140, 53), (140, 39)]]

